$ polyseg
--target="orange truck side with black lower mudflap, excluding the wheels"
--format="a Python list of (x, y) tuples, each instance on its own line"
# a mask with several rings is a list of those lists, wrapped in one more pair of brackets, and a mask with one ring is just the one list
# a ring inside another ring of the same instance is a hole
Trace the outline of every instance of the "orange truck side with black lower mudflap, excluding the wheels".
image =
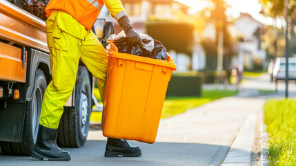
[[(26, 106), (32, 101), (35, 75), (50, 81), (46, 24), (10, 1), (0, 0), (0, 147), (20, 142)], [(3, 151), (3, 150), (2, 150)]]

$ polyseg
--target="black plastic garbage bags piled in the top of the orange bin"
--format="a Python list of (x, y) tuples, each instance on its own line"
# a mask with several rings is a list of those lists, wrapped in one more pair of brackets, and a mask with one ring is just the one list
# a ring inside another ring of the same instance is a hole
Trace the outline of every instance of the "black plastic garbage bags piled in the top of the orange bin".
[(161, 42), (152, 39), (152, 37), (146, 34), (139, 34), (143, 42), (143, 48), (140, 48), (139, 44), (131, 46), (128, 43), (128, 39), (121, 31), (118, 35), (111, 35), (108, 40), (113, 41), (118, 48), (119, 53), (128, 53), (131, 55), (138, 55), (141, 57), (150, 57), (153, 59), (161, 59), (167, 61), (166, 48)]

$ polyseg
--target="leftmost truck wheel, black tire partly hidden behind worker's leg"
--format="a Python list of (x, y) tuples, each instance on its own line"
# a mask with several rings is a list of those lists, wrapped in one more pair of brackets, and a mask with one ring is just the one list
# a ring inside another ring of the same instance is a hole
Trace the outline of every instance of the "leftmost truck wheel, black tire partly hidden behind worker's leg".
[(46, 76), (43, 71), (37, 69), (34, 96), (30, 102), (26, 103), (21, 142), (0, 142), (3, 154), (31, 156), (32, 149), (37, 140), (41, 105), (46, 87)]

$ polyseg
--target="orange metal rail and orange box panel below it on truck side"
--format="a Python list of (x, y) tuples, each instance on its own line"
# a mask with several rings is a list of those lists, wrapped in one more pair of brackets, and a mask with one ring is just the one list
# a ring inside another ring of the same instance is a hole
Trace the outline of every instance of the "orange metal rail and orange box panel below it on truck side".
[[(8, 1), (0, 1), (0, 36), (48, 53), (45, 23)], [(0, 80), (26, 82), (27, 56), (21, 48), (0, 42)]]

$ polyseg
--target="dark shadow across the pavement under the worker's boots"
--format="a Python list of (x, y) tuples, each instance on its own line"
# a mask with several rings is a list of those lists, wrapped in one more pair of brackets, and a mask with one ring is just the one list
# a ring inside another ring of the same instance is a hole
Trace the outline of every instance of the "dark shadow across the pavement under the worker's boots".
[[(39, 161), (31, 157), (5, 156), (0, 152), (0, 165), (220, 165), (229, 150), (227, 146), (200, 143), (155, 142), (146, 144), (131, 142), (141, 147), (139, 158), (103, 157), (106, 141), (88, 140), (77, 148), (63, 148), (70, 151), (70, 162)], [(237, 149), (239, 151), (239, 149)], [(246, 151), (239, 151), (246, 156)]]

